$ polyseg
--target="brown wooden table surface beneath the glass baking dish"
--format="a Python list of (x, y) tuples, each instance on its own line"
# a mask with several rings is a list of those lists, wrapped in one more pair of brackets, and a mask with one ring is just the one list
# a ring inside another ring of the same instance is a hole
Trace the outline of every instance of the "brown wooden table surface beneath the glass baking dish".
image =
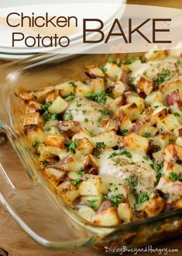
[[(130, 0), (128, 1), (130, 4), (147, 4), (147, 5), (162, 5), (162, 6), (171, 6), (174, 8), (182, 8), (182, 1), (173, 1), (173, 0)], [(1, 61), (0, 61), (1, 64)], [(29, 179), (26, 177), (24, 173), (22, 175), (22, 171), (20, 170), (20, 164), (15, 156), (14, 151), (6, 144), (5, 146), (0, 146), (0, 151), (5, 150), (6, 157), (3, 159), (2, 164), (6, 164), (9, 166), (11, 164), (14, 167), (12, 173), (9, 173), (12, 181), (16, 184), (19, 184), (20, 187), (29, 185)], [(1, 153), (0, 153), (1, 157)], [(9, 161), (11, 160), (11, 161)], [(181, 237), (175, 238), (173, 240), (163, 242), (160, 244), (156, 244), (153, 248), (177, 248), (178, 253), (173, 253), (173, 255), (181, 255), (182, 254), (182, 239)], [(17, 223), (15, 220), (12, 220), (12, 216), (7, 212), (5, 207), (0, 205), (0, 248), (3, 248), (5, 251), (9, 252), (10, 256), (56, 256), (56, 255), (99, 255), (97, 252), (92, 251), (91, 249), (82, 249), (76, 252), (60, 252), (60, 251), (50, 251), (41, 245), (37, 244), (32, 238), (30, 238)], [(1, 256), (0, 250), (0, 256)], [(127, 254), (129, 255), (129, 254)], [(133, 255), (133, 254), (132, 254)], [(150, 255), (150, 253), (146, 254), (137, 254), (141, 255)], [(157, 253), (152, 254), (154, 256), (159, 255)], [(172, 254), (170, 254), (172, 255)]]

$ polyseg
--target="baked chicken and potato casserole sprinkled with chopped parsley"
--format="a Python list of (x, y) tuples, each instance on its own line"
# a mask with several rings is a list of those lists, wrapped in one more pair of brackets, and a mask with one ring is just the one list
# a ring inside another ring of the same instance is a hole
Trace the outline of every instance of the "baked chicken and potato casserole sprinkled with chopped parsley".
[(84, 220), (115, 226), (182, 207), (181, 54), (108, 57), (85, 81), (19, 88), (42, 174)]

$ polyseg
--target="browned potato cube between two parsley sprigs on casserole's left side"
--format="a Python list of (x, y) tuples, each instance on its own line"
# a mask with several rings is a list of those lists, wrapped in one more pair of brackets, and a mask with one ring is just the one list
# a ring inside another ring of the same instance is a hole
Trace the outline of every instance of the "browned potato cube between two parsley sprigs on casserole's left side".
[(44, 144), (46, 146), (52, 146), (52, 147), (60, 147), (64, 148), (64, 144), (66, 142), (66, 137), (60, 136), (60, 134), (47, 134)]

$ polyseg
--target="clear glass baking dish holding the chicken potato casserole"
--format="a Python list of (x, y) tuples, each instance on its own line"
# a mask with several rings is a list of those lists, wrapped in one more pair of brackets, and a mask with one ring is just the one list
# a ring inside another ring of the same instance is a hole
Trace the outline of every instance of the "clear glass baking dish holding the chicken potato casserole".
[[(0, 201), (22, 229), (45, 247), (60, 250), (93, 247), (105, 251), (105, 247), (143, 247), (182, 234), (182, 209), (117, 227), (88, 223), (49, 188), (29, 150), (22, 132), (21, 104), (15, 96), (17, 88), (35, 89), (68, 79), (84, 79), (85, 65), (101, 64), (106, 58), (106, 55), (43, 54), (1, 66), (0, 130), (5, 130), (32, 185), (26, 189), (15, 187), (7, 175), (13, 166), (4, 168), (0, 164)], [(5, 150), (1, 146), (1, 162), (3, 156)]]

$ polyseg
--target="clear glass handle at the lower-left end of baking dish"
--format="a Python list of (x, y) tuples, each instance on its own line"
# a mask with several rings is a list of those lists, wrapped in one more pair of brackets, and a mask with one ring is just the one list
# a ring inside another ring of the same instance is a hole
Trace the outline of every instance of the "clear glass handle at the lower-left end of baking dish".
[[(0, 129), (6, 131), (9, 141), (15, 147), (12, 143), (15, 142), (15, 134), (11, 128), (0, 121)], [(11, 169), (10, 171), (13, 171), (13, 166)], [(39, 180), (33, 182), (29, 188), (16, 188), (2, 164), (0, 164), (0, 202), (5, 205), (22, 229), (43, 246), (72, 250), (77, 247), (88, 247), (94, 242), (94, 234), (90, 231), (88, 233), (79, 222), (68, 218)]]

